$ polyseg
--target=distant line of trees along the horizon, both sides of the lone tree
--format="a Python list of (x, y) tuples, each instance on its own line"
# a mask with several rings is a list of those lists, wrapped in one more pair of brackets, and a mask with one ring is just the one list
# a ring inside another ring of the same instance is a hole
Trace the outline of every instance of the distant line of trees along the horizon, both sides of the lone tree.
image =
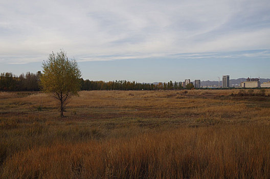
[[(21, 74), (15, 76), (12, 73), (0, 74), (0, 91), (39, 91), (39, 78), (41, 72)], [(187, 85), (186, 88), (193, 88), (193, 84)], [(135, 81), (116, 80), (116, 81), (90, 81), (81, 78), (81, 90), (173, 90), (183, 89), (181, 82), (160, 82), (138, 83)]]

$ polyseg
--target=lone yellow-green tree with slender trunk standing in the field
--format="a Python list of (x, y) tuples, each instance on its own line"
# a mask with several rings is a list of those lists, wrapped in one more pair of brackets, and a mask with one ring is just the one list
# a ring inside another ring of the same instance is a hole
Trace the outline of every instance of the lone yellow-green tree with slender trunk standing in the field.
[(81, 71), (76, 60), (68, 59), (63, 50), (57, 54), (52, 52), (48, 60), (42, 63), (40, 86), (42, 91), (60, 101), (61, 117), (63, 117), (68, 100), (72, 96), (78, 95), (80, 77)]

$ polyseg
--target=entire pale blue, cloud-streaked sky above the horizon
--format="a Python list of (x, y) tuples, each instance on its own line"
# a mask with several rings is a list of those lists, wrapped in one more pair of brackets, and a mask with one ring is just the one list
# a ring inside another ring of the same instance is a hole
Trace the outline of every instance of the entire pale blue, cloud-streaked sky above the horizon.
[(60, 49), (89, 80), (270, 78), (270, 2), (0, 0), (0, 72)]

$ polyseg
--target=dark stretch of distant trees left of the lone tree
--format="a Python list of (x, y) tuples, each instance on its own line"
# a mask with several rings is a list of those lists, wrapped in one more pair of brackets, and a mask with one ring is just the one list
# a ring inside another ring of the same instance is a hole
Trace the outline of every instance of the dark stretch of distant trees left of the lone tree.
[(27, 72), (20, 76), (12, 73), (0, 74), (0, 91), (39, 91), (39, 77), (41, 72), (36, 74)]

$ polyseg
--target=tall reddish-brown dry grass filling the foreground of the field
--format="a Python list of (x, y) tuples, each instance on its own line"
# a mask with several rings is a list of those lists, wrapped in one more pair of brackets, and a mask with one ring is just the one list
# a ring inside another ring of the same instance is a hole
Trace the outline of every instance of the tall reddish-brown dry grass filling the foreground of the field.
[(215, 126), (15, 153), (2, 178), (269, 178), (269, 126)]

